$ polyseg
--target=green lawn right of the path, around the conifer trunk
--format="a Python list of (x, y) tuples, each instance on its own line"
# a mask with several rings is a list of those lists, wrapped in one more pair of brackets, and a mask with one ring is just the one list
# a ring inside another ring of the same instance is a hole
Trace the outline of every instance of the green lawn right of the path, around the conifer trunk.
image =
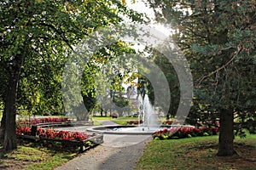
[(153, 140), (135, 169), (256, 169), (256, 135), (237, 138), (235, 148), (237, 156), (219, 157), (218, 136)]

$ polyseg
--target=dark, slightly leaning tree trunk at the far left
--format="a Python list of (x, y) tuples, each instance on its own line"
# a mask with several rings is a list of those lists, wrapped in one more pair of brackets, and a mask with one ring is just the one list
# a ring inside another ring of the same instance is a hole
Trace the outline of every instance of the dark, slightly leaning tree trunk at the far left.
[(9, 79), (9, 87), (4, 105), (6, 111), (3, 149), (8, 152), (17, 148), (16, 140), (16, 98), (20, 81), (21, 66), (25, 59), (25, 54), (16, 55), (14, 62), (10, 66), (11, 76)]

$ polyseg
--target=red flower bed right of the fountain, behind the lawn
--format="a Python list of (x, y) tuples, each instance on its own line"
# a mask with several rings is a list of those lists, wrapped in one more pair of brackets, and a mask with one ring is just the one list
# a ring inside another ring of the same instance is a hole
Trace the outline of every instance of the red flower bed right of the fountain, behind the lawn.
[(153, 133), (154, 139), (183, 139), (218, 133), (218, 127), (172, 127)]

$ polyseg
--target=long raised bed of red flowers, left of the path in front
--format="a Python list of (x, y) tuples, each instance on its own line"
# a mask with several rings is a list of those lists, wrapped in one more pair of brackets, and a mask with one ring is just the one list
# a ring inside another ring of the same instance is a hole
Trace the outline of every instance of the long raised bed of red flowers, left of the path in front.
[(62, 144), (69, 143), (70, 146), (79, 146), (80, 152), (103, 142), (102, 134), (57, 131), (53, 128), (37, 127), (36, 136), (32, 136), (32, 127), (18, 127), (16, 134), (21, 138), (61, 142)]

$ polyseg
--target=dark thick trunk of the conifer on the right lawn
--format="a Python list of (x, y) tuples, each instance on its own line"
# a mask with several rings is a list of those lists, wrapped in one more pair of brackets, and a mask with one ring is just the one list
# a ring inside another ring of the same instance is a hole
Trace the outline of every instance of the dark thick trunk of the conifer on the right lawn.
[(218, 156), (232, 156), (234, 150), (234, 114), (232, 110), (221, 111), (218, 136)]

